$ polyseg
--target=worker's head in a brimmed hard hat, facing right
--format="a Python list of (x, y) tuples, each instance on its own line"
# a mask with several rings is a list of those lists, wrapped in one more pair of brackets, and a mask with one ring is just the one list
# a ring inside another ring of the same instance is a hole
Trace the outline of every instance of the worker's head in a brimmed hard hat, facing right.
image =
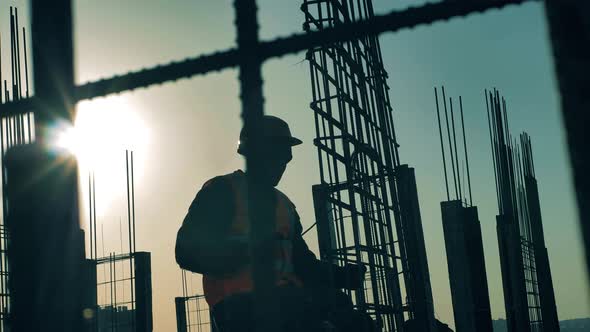
[[(301, 140), (291, 135), (289, 125), (285, 121), (272, 115), (262, 117), (261, 127), (262, 140), (261, 145), (258, 146), (264, 156), (262, 163), (264, 169), (261, 175), (264, 181), (276, 186), (293, 157), (291, 147), (301, 144)], [(243, 156), (247, 156), (253, 148), (250, 146), (249, 136), (248, 132), (242, 128), (238, 153)]]

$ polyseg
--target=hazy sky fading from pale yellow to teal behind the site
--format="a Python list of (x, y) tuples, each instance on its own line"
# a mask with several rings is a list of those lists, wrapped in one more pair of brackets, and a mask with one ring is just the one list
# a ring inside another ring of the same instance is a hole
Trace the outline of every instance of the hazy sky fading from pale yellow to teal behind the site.
[[(381, 13), (421, 2), (374, 1)], [(229, 0), (74, 3), (79, 83), (235, 44)], [(6, 7), (10, 4), (18, 5), (26, 14), (26, 1), (4, 1), (0, 5), (1, 13), (5, 13), (0, 20), (4, 40), (8, 27)], [(265, 0), (259, 4), (262, 38), (301, 31), (301, 1)], [(27, 23), (26, 16), (21, 18), (22, 23)], [(495, 230), (497, 203), (483, 99), (483, 90), (493, 87), (507, 99), (512, 132), (526, 130), (533, 139), (559, 317), (588, 316), (587, 276), (542, 5), (510, 7), (385, 34), (381, 45), (390, 76), (400, 155), (402, 162), (416, 168), (438, 318), (453, 325), (439, 208), (445, 194), (433, 96), (433, 87), (441, 84), (449, 95), (463, 96), (473, 197), (482, 223), (493, 318), (505, 317)], [(6, 50), (2, 55), (7, 56)], [(10, 62), (3, 62), (3, 69), (8, 70)], [(308, 107), (308, 64), (299, 53), (267, 62), (263, 72), (267, 113), (287, 120), (305, 142), (295, 149), (294, 161), (280, 188), (297, 204), (306, 227), (314, 221), (310, 188), (319, 181), (317, 155), (311, 143), (315, 134)], [(235, 153), (241, 124), (237, 74), (235, 69), (224, 70), (126, 93), (115, 102), (103, 101), (102, 107), (125, 108), (119, 109), (120, 114), (129, 116), (115, 115), (110, 122), (92, 122), (105, 136), (113, 136), (114, 129), (109, 126), (118, 121), (143, 127), (130, 142), (136, 151), (139, 173), (137, 248), (152, 252), (156, 331), (176, 327), (173, 298), (182, 291), (180, 270), (174, 261), (174, 240), (191, 200), (204, 181), (243, 165)], [(112, 109), (104, 113), (119, 114)], [(97, 127), (101, 123), (105, 128)], [(124, 174), (124, 152), (118, 153), (118, 159), (108, 160)], [(119, 183), (114, 190), (100, 190), (113, 183)], [(118, 251), (119, 218), (126, 218), (124, 180), (112, 169), (108, 173), (97, 170), (97, 190), (106, 252)], [(82, 219), (87, 222), (85, 214)], [(317, 247), (314, 232), (306, 239), (312, 248)], [(199, 288), (195, 277), (193, 289)]]

